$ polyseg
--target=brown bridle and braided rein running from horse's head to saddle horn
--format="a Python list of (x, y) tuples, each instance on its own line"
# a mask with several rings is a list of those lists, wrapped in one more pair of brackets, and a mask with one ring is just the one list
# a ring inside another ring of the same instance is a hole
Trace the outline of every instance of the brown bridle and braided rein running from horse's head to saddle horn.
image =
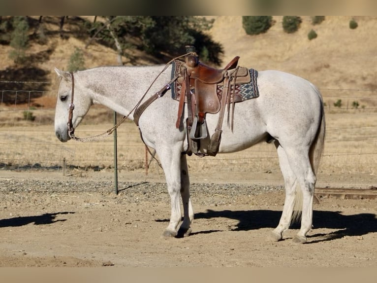
[[(75, 140), (75, 141), (97, 141), (101, 138), (105, 138), (109, 135), (111, 135), (115, 129), (117, 129), (124, 121), (126, 121), (126, 119), (128, 118), (128, 116), (136, 109), (140, 106), (141, 102), (143, 101), (143, 99), (145, 98), (145, 96), (147, 95), (148, 91), (151, 89), (151, 87), (153, 86), (153, 84), (156, 82), (157, 78), (160, 76), (161, 73), (163, 73), (167, 67), (176, 59), (178, 58), (181, 58), (181, 57), (184, 57), (188, 54), (192, 54), (192, 52), (189, 52), (187, 54), (184, 54), (184, 55), (181, 55), (181, 56), (178, 56), (172, 60), (170, 60), (168, 63), (166, 63), (165, 67), (162, 69), (162, 71), (160, 71), (158, 73), (158, 75), (156, 76), (156, 78), (153, 80), (153, 82), (151, 83), (151, 85), (148, 87), (148, 89), (145, 91), (145, 93), (143, 94), (143, 96), (140, 98), (140, 100), (138, 101), (138, 103), (131, 109), (131, 111), (129, 111), (129, 113), (126, 115), (126, 116), (123, 116), (122, 120), (119, 121), (114, 127), (112, 127), (111, 129), (107, 130), (106, 132), (102, 133), (102, 134), (99, 134), (99, 135), (96, 135), (96, 136), (93, 136), (93, 137), (89, 137), (89, 138), (78, 138), (74, 135), (74, 128), (73, 128), (73, 124), (72, 124), (72, 117), (73, 117), (73, 109), (75, 108), (74, 104), (73, 104), (73, 96), (74, 96), (74, 89), (75, 89), (75, 79), (74, 79), (74, 76), (73, 76), (73, 72), (70, 72), (71, 74), (71, 77), (72, 77), (72, 94), (71, 94), (71, 103), (69, 104), (69, 108), (68, 108), (68, 136), (72, 139), (72, 140)], [(170, 82), (168, 82), (167, 84), (165, 84), (160, 91), (158, 91), (157, 93), (155, 93), (154, 96), (152, 96), (151, 98), (149, 98), (147, 101), (146, 101), (146, 104), (143, 104), (142, 107), (140, 107), (141, 111), (139, 110), (138, 111), (138, 115), (137, 115), (137, 120), (139, 118), (139, 116), (142, 114), (142, 112), (145, 110), (145, 108), (147, 108), (147, 106), (149, 106), (153, 101), (155, 101), (157, 98), (160, 98), (163, 96), (163, 94), (170, 88), (170, 85), (178, 78), (178, 76), (175, 76)]]

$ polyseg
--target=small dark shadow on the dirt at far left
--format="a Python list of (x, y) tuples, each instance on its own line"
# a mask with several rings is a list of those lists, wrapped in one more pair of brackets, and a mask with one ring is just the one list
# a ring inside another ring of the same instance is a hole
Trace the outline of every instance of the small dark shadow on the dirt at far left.
[(52, 224), (59, 221), (65, 221), (67, 219), (55, 219), (60, 214), (70, 214), (75, 212), (55, 212), (55, 213), (44, 213), (41, 215), (33, 216), (18, 216), (7, 219), (0, 219), (0, 228), (2, 227), (19, 227), (30, 223), (34, 225)]

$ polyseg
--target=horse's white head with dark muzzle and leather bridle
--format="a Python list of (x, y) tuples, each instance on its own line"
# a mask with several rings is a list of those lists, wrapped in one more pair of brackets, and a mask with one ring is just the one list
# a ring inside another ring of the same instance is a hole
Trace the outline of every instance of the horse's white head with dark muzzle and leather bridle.
[[(75, 77), (72, 73), (56, 68), (55, 71), (61, 79), (55, 109), (55, 134), (60, 141), (65, 142), (71, 139), (68, 134), (68, 125), (71, 125), (70, 134), (73, 134), (92, 102), (85, 92), (81, 91), (81, 87), (74, 80)], [(70, 111), (70, 109), (72, 110)]]

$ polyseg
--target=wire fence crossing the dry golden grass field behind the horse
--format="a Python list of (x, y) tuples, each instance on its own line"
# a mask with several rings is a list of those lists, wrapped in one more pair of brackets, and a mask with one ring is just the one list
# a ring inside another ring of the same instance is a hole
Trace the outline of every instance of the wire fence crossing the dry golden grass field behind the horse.
[[(320, 89), (327, 133), (320, 170), (377, 175), (377, 96), (374, 90)], [(58, 141), (54, 133), (56, 91), (0, 90), (0, 169), (61, 170), (114, 167), (111, 137), (91, 142)], [(89, 137), (113, 126), (114, 112), (93, 106), (76, 135)], [(134, 123), (117, 132), (118, 168), (146, 167), (146, 149)], [(150, 159), (150, 156), (148, 157)], [(280, 171), (275, 147), (257, 144), (242, 152), (188, 159), (191, 169), (216, 172)], [(161, 173), (157, 162), (150, 171)], [(376, 185), (376, 184), (374, 184)]]

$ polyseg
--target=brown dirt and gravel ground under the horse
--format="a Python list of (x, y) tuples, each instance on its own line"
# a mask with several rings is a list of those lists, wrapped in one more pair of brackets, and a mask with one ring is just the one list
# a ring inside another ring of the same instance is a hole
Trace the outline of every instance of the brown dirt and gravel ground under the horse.
[(281, 177), (250, 177), (257, 185), (237, 183), (237, 176), (214, 174), (203, 182), (191, 175), (192, 234), (165, 239), (170, 205), (162, 175), (121, 172), (116, 195), (112, 172), (0, 171), (0, 266), (377, 265), (376, 199), (322, 198), (307, 244), (291, 241), (297, 226), (271, 243), (266, 236), (283, 208)]

